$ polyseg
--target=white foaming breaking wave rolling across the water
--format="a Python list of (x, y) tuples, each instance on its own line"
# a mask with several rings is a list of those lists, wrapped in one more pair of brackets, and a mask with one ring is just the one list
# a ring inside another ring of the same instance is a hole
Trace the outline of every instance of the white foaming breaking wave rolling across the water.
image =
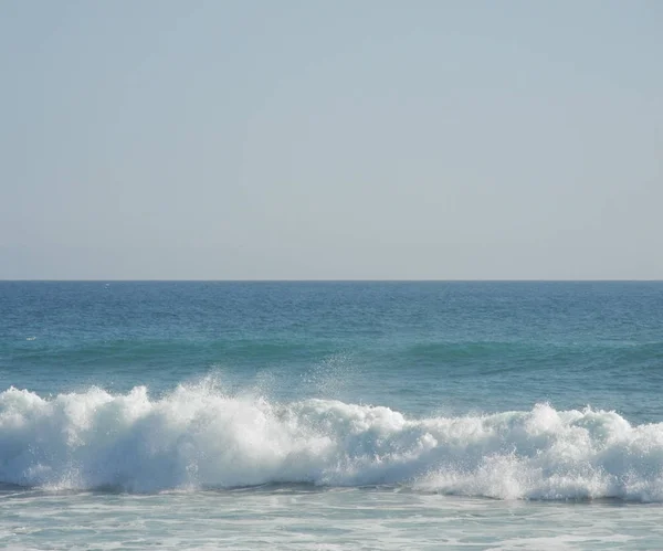
[(501, 499), (663, 501), (663, 424), (615, 412), (408, 418), (333, 400), (275, 403), (181, 385), (0, 393), (0, 483), (150, 492), (262, 484), (393, 485)]

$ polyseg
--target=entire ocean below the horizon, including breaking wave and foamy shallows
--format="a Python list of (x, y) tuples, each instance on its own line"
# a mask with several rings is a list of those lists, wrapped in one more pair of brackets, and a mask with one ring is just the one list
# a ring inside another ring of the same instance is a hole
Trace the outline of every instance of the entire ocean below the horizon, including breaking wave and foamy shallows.
[(0, 282), (0, 547), (663, 549), (663, 283)]

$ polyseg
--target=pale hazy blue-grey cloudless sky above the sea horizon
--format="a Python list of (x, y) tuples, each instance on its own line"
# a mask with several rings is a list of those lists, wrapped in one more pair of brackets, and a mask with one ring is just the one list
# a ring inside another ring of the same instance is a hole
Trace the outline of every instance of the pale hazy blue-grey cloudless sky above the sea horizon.
[(0, 0), (0, 278), (663, 279), (663, 2)]

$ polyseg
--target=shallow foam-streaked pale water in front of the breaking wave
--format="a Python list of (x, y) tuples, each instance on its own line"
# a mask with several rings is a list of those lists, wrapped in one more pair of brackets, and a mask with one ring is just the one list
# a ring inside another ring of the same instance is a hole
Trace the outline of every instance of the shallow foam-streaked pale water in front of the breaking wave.
[[(20, 504), (18, 502), (20, 501)], [(387, 489), (269, 486), (0, 499), (20, 549), (656, 549), (660, 507), (492, 500)], [(18, 509), (20, 507), (20, 509)], [(20, 510), (20, 513), (15, 511)]]

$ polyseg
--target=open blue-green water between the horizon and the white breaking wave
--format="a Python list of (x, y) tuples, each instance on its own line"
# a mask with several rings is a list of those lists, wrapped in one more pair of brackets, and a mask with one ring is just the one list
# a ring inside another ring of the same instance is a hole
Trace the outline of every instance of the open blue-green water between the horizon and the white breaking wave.
[(0, 386), (663, 421), (662, 283), (2, 282)]

